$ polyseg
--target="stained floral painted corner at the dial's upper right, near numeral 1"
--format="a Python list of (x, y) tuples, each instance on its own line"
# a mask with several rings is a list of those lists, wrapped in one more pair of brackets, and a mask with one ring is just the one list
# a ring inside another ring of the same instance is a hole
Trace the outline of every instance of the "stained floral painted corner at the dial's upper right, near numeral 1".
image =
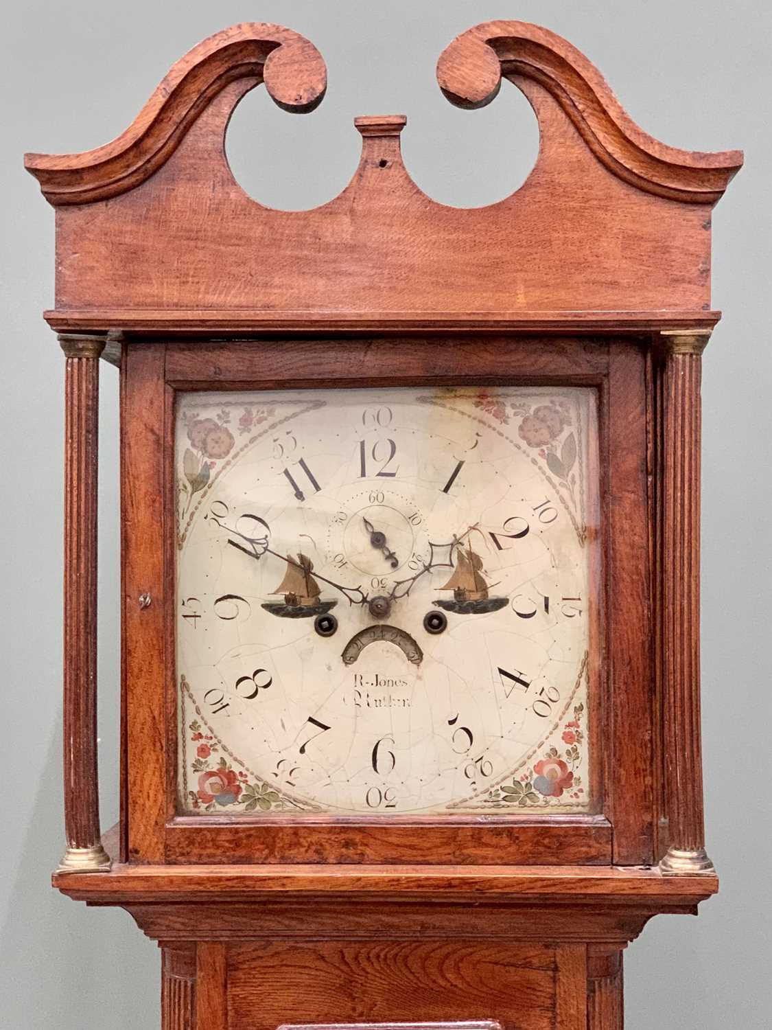
[(549, 398), (546, 404), (528, 404), (503, 394), (483, 392), (475, 402), (501, 425), (518, 420), (518, 436), (531, 448), (563, 485), (576, 509), (576, 434), (571, 405), (565, 398)]

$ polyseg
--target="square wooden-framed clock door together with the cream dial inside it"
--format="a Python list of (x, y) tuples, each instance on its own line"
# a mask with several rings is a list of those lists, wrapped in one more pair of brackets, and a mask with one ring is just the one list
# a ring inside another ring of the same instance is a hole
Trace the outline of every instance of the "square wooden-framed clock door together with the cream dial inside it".
[(606, 460), (645, 366), (558, 347), (546, 380), (543, 346), (128, 348), (128, 580), (167, 584), (127, 610), (130, 758), (165, 784), (150, 820), (129, 778), (133, 854), (646, 861), (615, 760), (651, 746), (645, 470)]

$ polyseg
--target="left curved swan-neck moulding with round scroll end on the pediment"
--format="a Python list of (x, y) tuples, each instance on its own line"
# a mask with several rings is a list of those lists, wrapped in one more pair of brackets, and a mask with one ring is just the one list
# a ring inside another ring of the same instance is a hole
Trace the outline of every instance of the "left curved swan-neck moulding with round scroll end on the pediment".
[(168, 161), (211, 100), (236, 79), (265, 82), (279, 107), (305, 113), (321, 102), (327, 72), (313, 43), (296, 32), (279, 25), (234, 25), (177, 61), (112, 142), (82, 153), (28, 153), (25, 167), (55, 206), (126, 193)]

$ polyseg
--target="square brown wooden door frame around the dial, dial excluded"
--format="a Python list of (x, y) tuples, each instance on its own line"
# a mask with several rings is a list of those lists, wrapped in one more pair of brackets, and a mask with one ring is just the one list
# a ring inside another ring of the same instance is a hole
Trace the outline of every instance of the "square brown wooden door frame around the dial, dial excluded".
[[(364, 350), (366, 376), (342, 381), (339, 370), (364, 367)], [(594, 629), (594, 718), (590, 732), (598, 798), (595, 814), (401, 816), (389, 819), (388, 825), (383, 820), (366, 825), (366, 820), (354, 816), (299, 816), (296, 820), (177, 816), (173, 534), (166, 531), (164, 551), (157, 531), (157, 505), (133, 509), (134, 493), (125, 491), (124, 520), (134, 529), (133, 539), (125, 542), (128, 797), (124, 848), (132, 860), (442, 863), (453, 854), (461, 862), (511, 864), (653, 861), (651, 782), (642, 779), (633, 785), (627, 777), (612, 772), (615, 767), (650, 767), (653, 758), (651, 732), (641, 731), (642, 724), (651, 723), (653, 698), (648, 634), (640, 631), (648, 618), (648, 550), (640, 546), (647, 540), (646, 470), (642, 462), (630, 460), (632, 453), (645, 453), (645, 357), (635, 343), (557, 340), (550, 350), (550, 373), (546, 375), (538, 342), (524, 340), (499, 340), (491, 347), (484, 340), (449, 338), (444, 341), (442, 357), (434, 346), (420, 339), (241, 342), (236, 348), (220, 344), (197, 345), (195, 349), (180, 344), (127, 346), (122, 417), (134, 427), (135, 446), (126, 458), (122, 475), (132, 483), (147, 484), (150, 496), (163, 495), (164, 519), (172, 524), (175, 496), (169, 467), (170, 426), (178, 390), (276, 389), (311, 383), (317, 388), (464, 383), (592, 386), (600, 400), (601, 465), (608, 470), (603, 476), (600, 519), (604, 580), (606, 584), (611, 578), (615, 584), (635, 585), (634, 592), (623, 592), (624, 600), (620, 596), (615, 599), (617, 589), (610, 596), (601, 589), (599, 604), (590, 613)], [(165, 447), (142, 447), (140, 453), (136, 439), (140, 424), (151, 438), (164, 439)], [(613, 502), (625, 496), (634, 500), (622, 508), (619, 501)], [(153, 580), (166, 584), (165, 589), (153, 590)], [(153, 604), (136, 610), (132, 602), (142, 592), (149, 592)], [(610, 613), (605, 632), (601, 630), (601, 607)], [(154, 647), (148, 647), (150, 620), (157, 626), (156, 636), (149, 638)], [(616, 690), (610, 687), (615, 662), (624, 662), (626, 668), (624, 687)], [(613, 712), (613, 719), (609, 712)], [(148, 733), (148, 723), (165, 726), (163, 736)], [(166, 783), (163, 809), (148, 806), (144, 778), (148, 783)], [(639, 811), (650, 813), (646, 824), (636, 822), (634, 828), (626, 825), (624, 817), (633, 797)]]

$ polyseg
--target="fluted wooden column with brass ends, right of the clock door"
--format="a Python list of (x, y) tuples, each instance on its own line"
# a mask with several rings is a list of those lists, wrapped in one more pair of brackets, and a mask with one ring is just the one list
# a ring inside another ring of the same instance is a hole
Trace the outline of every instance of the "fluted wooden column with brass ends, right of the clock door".
[(663, 333), (662, 671), (669, 874), (712, 873), (700, 725), (700, 380), (707, 332)]

